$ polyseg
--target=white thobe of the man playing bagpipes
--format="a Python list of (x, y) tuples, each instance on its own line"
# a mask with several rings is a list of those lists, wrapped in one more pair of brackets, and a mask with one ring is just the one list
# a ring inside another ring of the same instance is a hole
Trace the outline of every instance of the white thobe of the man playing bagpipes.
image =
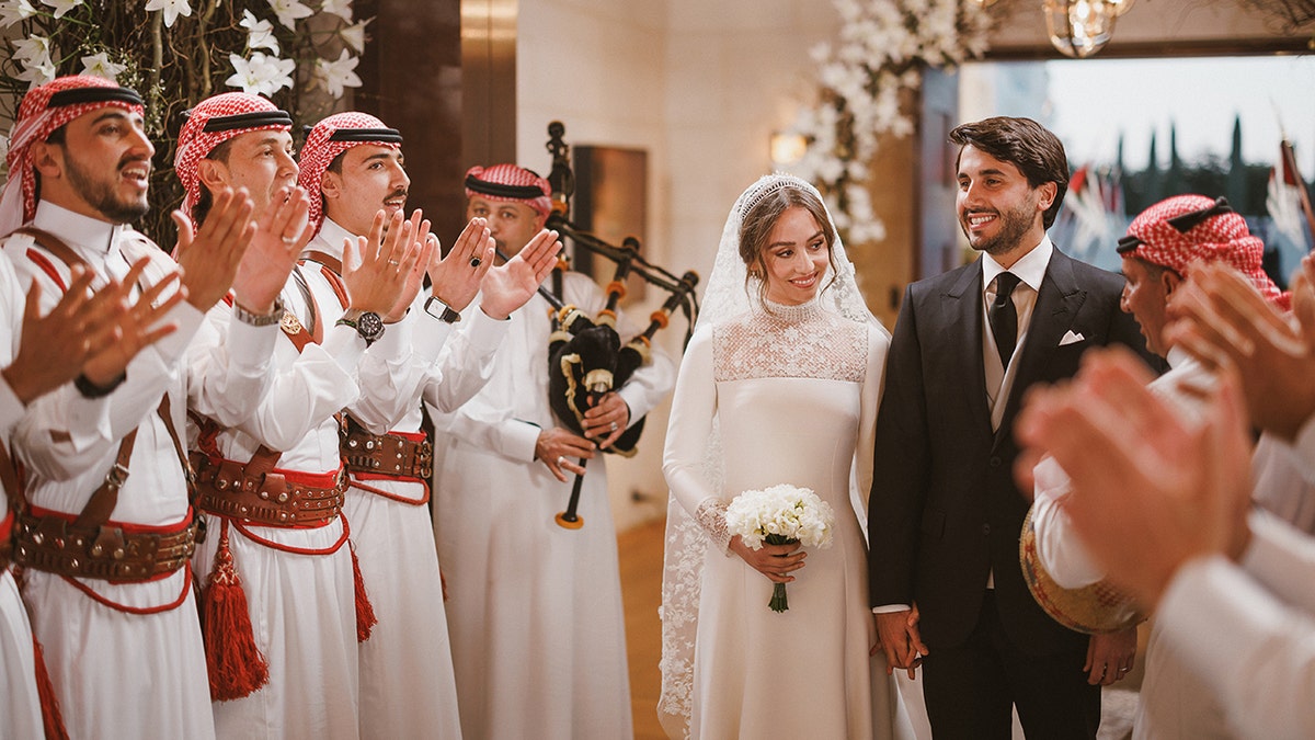
[[(564, 275), (563, 292), (588, 316), (606, 303), (580, 274)], [(623, 338), (634, 333), (621, 325)], [(562, 483), (534, 458), (539, 432), (560, 425), (548, 406), (550, 333), (548, 303), (537, 295), (512, 315), (489, 383), (455, 413), (434, 419), (438, 556), (469, 740), (614, 740), (633, 732), (604, 456), (589, 461), (584, 477), (580, 529), (554, 521), (573, 477)], [(675, 365), (655, 349), (652, 363), (619, 390), (631, 423), (673, 381)]]

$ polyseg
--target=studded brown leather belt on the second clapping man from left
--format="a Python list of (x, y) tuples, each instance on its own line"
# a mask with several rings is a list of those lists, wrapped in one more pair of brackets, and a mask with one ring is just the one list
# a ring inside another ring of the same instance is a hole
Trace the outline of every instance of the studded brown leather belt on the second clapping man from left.
[(203, 511), (267, 527), (322, 527), (342, 511), (346, 477), (331, 489), (289, 483), (281, 473), (247, 475), (241, 462), (192, 453)]

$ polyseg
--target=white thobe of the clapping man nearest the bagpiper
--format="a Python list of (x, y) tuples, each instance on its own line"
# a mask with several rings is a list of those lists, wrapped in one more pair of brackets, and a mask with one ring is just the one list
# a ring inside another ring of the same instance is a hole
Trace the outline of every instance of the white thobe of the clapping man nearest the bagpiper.
[[(345, 238), (351, 234), (325, 219), (308, 249), (341, 263)], [(306, 271), (316, 277), (320, 266), (308, 262)], [(342, 304), (320, 275), (310, 284), (323, 320), (331, 324), (342, 316)], [(476, 311), (473, 330), (454, 336), (454, 325), (426, 313), (423, 302), (422, 294), (381, 340), (410, 349), (405, 366), (393, 367), (387, 382), (363, 381), (362, 398), (347, 408), (371, 433), (419, 432), (422, 395), (454, 411), (492, 374), (494, 352), (510, 321)], [(427, 481), (354, 474), (347, 489), (345, 511), (379, 619), (370, 640), (359, 644), (362, 737), (462, 736), (438, 550), (425, 506), (427, 486)]]

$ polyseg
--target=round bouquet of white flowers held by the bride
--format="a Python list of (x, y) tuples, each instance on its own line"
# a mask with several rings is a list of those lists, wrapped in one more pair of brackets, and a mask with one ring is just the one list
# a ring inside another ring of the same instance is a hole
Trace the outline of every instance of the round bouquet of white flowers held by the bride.
[[(811, 489), (801, 489), (789, 483), (771, 486), (761, 491), (748, 490), (731, 500), (726, 507), (726, 528), (730, 535), (751, 549), (769, 545), (792, 545), (800, 542), (807, 548), (827, 548), (831, 545), (831, 527), (835, 515), (831, 506), (819, 499)], [(772, 611), (785, 611), (785, 583), (776, 583)]]

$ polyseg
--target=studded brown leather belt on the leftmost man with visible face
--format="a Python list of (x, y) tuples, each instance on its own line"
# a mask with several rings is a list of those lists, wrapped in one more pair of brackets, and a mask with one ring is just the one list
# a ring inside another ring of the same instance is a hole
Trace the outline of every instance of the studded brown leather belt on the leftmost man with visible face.
[(13, 561), (58, 575), (146, 581), (183, 568), (193, 550), (195, 521), (174, 532), (133, 533), (108, 524), (80, 528), (59, 516), (22, 514)]

